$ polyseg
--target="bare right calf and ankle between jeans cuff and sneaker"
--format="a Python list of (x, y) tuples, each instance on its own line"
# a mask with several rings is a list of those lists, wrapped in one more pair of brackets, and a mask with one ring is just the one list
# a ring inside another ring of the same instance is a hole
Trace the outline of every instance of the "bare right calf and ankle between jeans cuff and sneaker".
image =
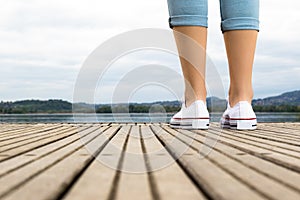
[(230, 71), (230, 106), (234, 106), (239, 101), (249, 103), (252, 101), (252, 68), (256, 40), (256, 30), (236, 30), (224, 33)]

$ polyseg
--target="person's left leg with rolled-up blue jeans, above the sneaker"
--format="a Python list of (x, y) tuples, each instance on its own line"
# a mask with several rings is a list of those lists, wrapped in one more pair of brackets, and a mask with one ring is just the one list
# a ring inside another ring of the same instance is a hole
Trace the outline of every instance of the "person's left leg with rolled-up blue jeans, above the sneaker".
[[(170, 27), (174, 30), (185, 79), (185, 104), (189, 106), (195, 100), (205, 102), (207, 0), (168, 0), (168, 7)], [(183, 34), (195, 41), (199, 48), (186, 42)]]

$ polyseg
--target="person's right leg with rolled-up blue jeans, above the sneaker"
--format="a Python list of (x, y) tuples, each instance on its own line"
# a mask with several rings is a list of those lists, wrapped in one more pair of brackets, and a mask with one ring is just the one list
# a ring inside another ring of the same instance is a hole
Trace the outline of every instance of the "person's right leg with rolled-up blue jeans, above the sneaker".
[(259, 0), (220, 0), (220, 6), (230, 71), (229, 102), (231, 106), (239, 101), (251, 103)]

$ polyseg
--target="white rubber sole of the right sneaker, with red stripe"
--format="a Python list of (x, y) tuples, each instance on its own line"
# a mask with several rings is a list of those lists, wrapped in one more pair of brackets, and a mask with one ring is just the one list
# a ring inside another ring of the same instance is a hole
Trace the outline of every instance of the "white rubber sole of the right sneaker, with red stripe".
[(250, 119), (221, 119), (221, 128), (234, 130), (255, 130), (257, 121), (255, 118)]

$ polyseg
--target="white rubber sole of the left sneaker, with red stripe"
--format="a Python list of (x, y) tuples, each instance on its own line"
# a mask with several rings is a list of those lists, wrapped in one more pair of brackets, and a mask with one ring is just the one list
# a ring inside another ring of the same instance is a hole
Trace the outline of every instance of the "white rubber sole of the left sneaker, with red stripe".
[(208, 129), (209, 119), (180, 119), (170, 123), (171, 128), (180, 129)]

